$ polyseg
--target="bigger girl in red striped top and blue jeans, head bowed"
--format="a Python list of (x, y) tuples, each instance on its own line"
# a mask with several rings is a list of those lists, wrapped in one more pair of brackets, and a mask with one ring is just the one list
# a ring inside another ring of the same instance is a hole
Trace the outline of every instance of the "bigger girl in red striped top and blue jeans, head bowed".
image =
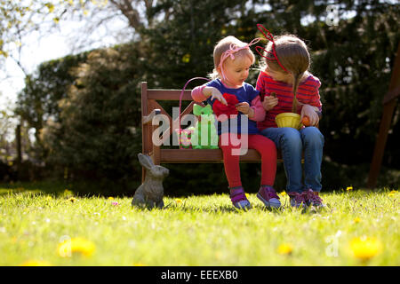
[[(265, 66), (257, 80), (257, 90), (260, 91), (262, 105), (267, 113), (265, 120), (258, 123), (259, 130), (282, 151), (287, 177), (286, 192), (291, 198), (291, 205), (324, 206), (318, 195), (322, 187), (324, 146), (324, 136), (317, 128), (322, 111), (318, 92), (321, 83), (308, 72), (310, 56), (303, 41), (296, 36), (278, 36), (274, 40), (269, 32), (266, 37), (269, 43), (264, 50)], [(294, 93), (297, 94), (297, 107), (294, 111), (301, 114), (301, 118), (308, 116), (311, 126), (300, 130), (278, 128), (276, 114), (292, 112)], [(301, 167), (303, 151), (304, 184)]]

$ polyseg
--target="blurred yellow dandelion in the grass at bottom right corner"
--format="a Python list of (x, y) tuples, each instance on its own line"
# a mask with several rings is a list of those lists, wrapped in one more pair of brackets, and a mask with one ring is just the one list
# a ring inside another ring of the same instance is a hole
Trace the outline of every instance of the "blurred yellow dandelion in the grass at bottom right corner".
[(350, 241), (350, 249), (356, 258), (367, 261), (380, 253), (381, 243), (373, 238), (354, 238)]

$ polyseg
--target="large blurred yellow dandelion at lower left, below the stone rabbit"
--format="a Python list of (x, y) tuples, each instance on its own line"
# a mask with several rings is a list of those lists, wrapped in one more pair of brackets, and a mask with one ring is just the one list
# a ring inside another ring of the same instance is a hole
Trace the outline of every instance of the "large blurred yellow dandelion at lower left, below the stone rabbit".
[(59, 244), (57, 251), (61, 257), (70, 257), (76, 254), (92, 256), (95, 246), (92, 241), (83, 238), (73, 238)]

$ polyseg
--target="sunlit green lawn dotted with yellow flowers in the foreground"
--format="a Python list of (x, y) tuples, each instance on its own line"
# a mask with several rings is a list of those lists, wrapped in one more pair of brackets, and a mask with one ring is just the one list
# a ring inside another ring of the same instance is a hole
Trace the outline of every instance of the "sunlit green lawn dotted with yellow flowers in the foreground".
[[(233, 209), (228, 194), (164, 197), (165, 209), (132, 209), (132, 198), (0, 189), (0, 265), (400, 265), (399, 199), (390, 189), (323, 193), (327, 209)], [(113, 205), (112, 202), (118, 202)], [(84, 238), (91, 256), (62, 257), (61, 241)], [(367, 261), (349, 248), (372, 238)], [(292, 252), (281, 254), (287, 244)]]

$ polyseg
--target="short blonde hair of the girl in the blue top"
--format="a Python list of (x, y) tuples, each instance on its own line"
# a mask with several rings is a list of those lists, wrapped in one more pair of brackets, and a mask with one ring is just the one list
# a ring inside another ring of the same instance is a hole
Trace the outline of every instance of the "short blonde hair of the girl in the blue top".
[[(234, 46), (244, 47), (247, 43), (242, 42), (241, 40), (237, 39), (235, 36), (227, 36), (222, 38), (217, 45), (214, 47), (213, 58), (214, 58), (214, 68), (212, 73), (208, 75), (209, 78), (212, 80), (220, 78), (220, 73), (218, 72), (218, 67), (220, 65), (220, 58), (225, 51), (228, 51), (230, 45), (233, 44)], [(243, 50), (235, 52), (235, 56), (248, 56), (252, 63), (255, 61), (254, 53), (252, 53), (250, 48), (245, 48)]]

